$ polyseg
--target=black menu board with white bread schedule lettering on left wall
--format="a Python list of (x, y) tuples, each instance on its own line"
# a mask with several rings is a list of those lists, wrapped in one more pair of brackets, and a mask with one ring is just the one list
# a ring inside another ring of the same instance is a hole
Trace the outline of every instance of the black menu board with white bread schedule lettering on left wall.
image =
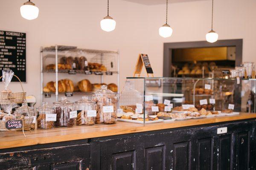
[[(26, 33), (0, 31), (0, 75), (10, 69), (26, 82)], [(16, 77), (12, 81), (17, 82)]]

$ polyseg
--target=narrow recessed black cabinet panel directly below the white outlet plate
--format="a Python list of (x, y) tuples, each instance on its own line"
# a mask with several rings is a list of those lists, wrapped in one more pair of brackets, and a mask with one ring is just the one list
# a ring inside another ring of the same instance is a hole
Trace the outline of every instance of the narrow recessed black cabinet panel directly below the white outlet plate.
[(219, 138), (219, 170), (230, 170), (231, 135), (222, 135)]

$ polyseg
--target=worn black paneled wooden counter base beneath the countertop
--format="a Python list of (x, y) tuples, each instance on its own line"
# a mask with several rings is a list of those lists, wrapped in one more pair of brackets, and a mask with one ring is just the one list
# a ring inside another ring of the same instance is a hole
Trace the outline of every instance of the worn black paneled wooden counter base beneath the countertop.
[(255, 170), (255, 129), (245, 119), (14, 147), (0, 150), (0, 169)]

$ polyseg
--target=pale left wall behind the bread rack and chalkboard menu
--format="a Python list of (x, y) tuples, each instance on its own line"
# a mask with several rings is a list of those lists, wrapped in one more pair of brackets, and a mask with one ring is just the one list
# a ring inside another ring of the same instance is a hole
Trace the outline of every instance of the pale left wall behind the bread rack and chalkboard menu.
[[(111, 0), (110, 16), (117, 24), (115, 31), (107, 33), (99, 24), (107, 15), (106, 0), (33, 0), (40, 13), (36, 20), (30, 21), (20, 16), (19, 8), (25, 1), (0, 0), (0, 30), (26, 33), (27, 83), (24, 88), (27, 94), (35, 95), (38, 100), (41, 46), (58, 44), (119, 50), (120, 87), (127, 76), (132, 76), (137, 55), (146, 53), (147, 10), (143, 5)], [(20, 86), (11, 83), (10, 89), (18, 91)]]

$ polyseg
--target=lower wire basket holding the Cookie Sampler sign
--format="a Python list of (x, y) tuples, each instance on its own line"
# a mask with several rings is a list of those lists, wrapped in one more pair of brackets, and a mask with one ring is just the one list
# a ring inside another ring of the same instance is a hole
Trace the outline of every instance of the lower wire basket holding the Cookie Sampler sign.
[(31, 129), (31, 125), (33, 122), (33, 117), (32, 116), (19, 116), (17, 117), (17, 119), (15, 120), (10, 120), (10, 121), (22, 121), (22, 127), (20, 128), (15, 128), (15, 129), (8, 129), (6, 127), (6, 122), (8, 122), (9, 120), (0, 120), (0, 131), (7, 131), (7, 130), (30, 130)]

